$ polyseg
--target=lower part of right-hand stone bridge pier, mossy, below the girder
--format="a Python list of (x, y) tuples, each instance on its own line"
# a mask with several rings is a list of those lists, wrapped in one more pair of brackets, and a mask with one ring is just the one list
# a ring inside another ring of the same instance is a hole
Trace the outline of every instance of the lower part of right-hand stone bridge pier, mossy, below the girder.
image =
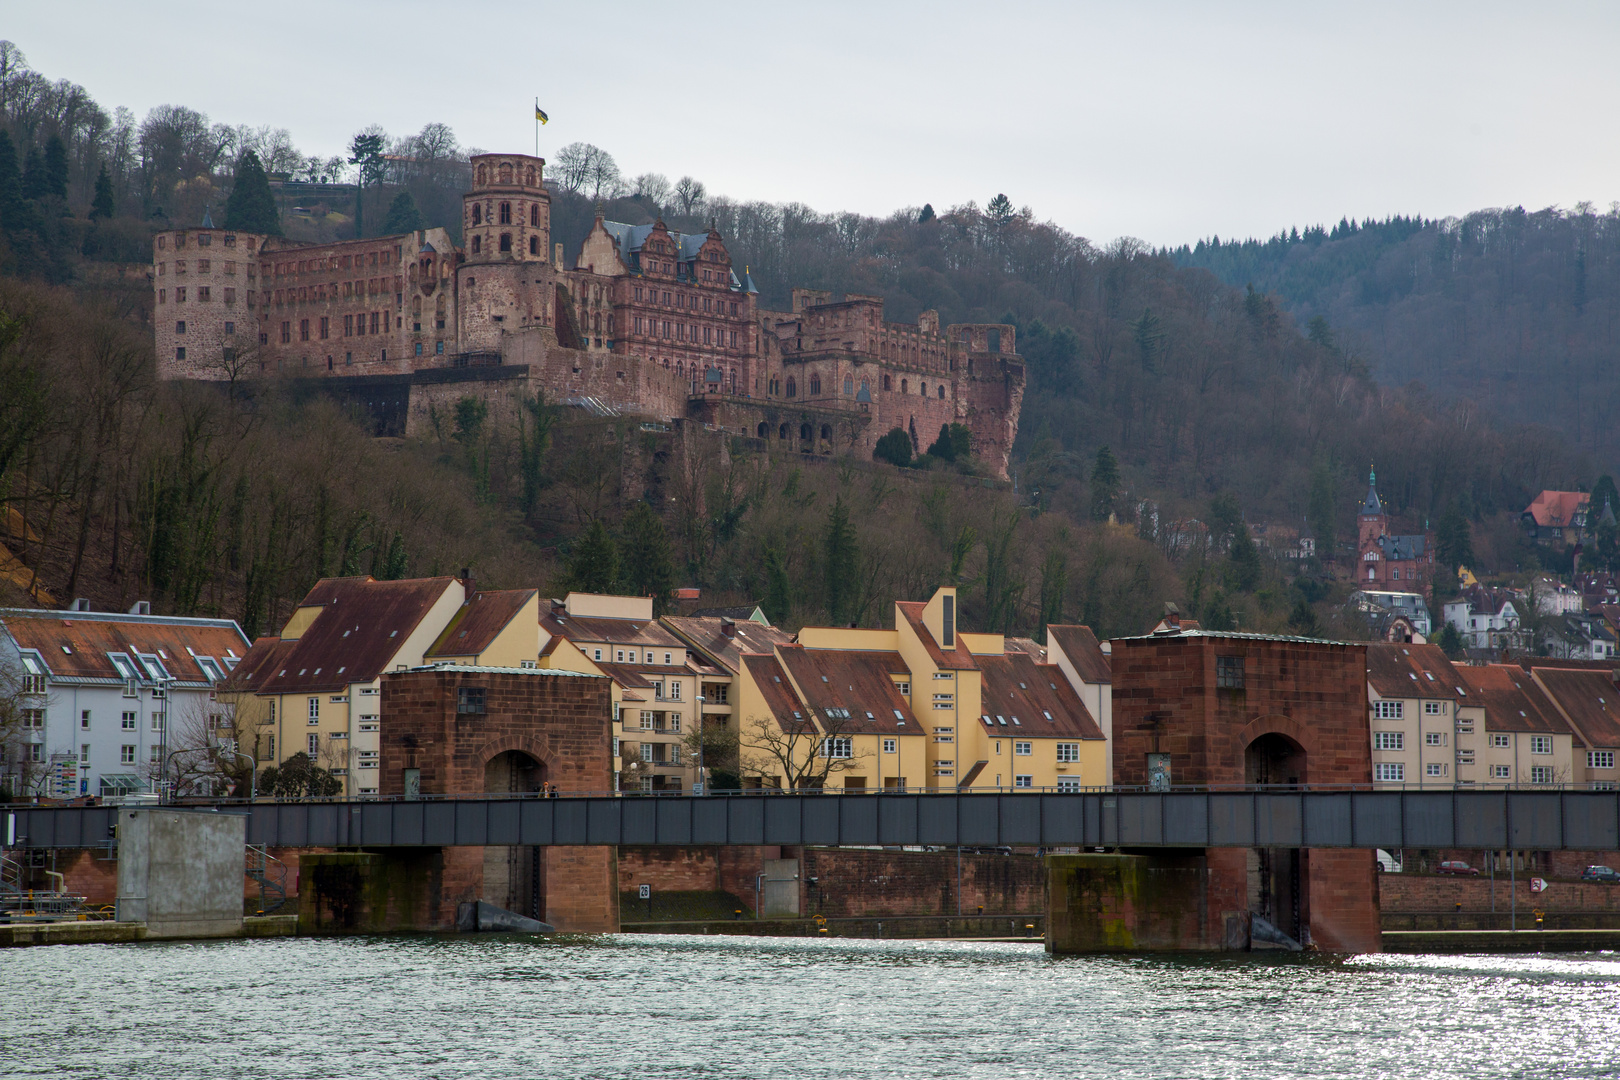
[[(1298, 850), (1298, 848), (1290, 848)], [(1051, 855), (1047, 950), (1200, 952), (1249, 949), (1249, 918), (1265, 891), (1247, 848)], [(1298, 929), (1322, 952), (1379, 952), (1372, 852), (1299, 850)]]

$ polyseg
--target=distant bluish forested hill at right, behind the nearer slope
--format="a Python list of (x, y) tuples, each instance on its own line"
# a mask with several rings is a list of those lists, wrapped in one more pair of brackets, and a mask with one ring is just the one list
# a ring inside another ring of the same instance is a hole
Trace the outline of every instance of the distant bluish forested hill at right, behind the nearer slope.
[(1168, 254), (1275, 293), (1301, 325), (1320, 319), (1314, 335), (1380, 382), (1620, 453), (1620, 206), (1340, 220)]

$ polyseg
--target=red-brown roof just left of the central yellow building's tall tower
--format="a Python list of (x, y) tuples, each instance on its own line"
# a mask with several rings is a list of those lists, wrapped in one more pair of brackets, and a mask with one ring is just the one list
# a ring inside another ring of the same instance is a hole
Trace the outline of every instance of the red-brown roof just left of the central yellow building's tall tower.
[[(922, 735), (922, 724), (889, 675), (910, 682), (899, 653), (865, 649), (807, 649), (778, 646), (776, 656), (799, 687), (804, 703), (823, 730), (849, 733)], [(828, 716), (828, 709), (849, 716)], [(897, 714), (897, 716), (896, 716)]]

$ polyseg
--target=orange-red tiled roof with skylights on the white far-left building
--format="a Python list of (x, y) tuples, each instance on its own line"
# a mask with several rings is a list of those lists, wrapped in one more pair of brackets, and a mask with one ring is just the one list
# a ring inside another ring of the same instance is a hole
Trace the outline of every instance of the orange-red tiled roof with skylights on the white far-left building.
[(125, 653), (134, 659), (136, 653), (144, 653), (159, 657), (175, 680), (209, 685), (193, 653), (212, 656), (220, 672), (228, 674), (227, 661), (240, 661), (249, 651), (241, 628), (224, 619), (5, 609), (0, 610), (0, 625), (18, 648), (37, 649), (53, 678), (122, 680), (107, 654)]

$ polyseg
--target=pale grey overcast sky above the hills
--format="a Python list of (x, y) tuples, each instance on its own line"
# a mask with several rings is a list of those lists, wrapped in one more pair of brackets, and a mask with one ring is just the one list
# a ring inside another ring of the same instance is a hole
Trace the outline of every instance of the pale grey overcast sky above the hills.
[(888, 214), (983, 206), (1152, 244), (1620, 199), (1614, 3), (6, 5), (0, 36), (138, 115), (583, 139), (625, 175)]

